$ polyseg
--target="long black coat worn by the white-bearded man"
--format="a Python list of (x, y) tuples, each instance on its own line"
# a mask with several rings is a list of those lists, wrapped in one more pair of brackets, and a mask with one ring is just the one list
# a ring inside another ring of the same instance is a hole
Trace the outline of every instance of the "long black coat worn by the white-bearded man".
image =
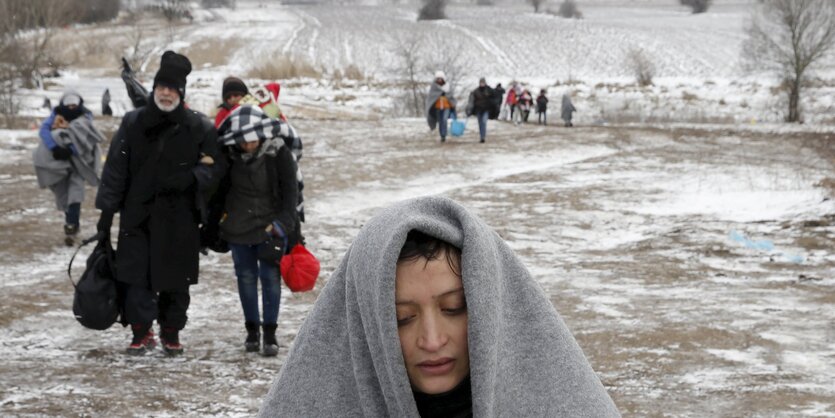
[(129, 112), (113, 137), (96, 195), (103, 212), (120, 212), (120, 281), (154, 291), (197, 283), (203, 191), (217, 178), (217, 133), (181, 104), (159, 110), (152, 99)]

